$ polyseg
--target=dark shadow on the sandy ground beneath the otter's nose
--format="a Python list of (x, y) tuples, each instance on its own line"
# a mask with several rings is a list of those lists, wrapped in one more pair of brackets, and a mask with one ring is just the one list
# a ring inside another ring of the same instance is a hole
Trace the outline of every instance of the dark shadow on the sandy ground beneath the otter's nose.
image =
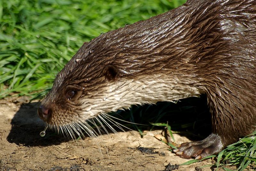
[(44, 137), (40, 136), (40, 132), (44, 130), (45, 123), (37, 115), (37, 107), (39, 105), (39, 102), (34, 102), (20, 106), (11, 121), (12, 129), (7, 136), (9, 143), (22, 144), (24, 146), (48, 146), (68, 141), (63, 135), (58, 135), (50, 129), (47, 129)]

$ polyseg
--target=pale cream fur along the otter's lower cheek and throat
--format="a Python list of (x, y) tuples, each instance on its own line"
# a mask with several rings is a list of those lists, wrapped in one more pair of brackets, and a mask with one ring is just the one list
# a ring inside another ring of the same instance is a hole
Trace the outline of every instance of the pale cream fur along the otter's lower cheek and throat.
[(200, 90), (191, 87), (189, 83), (161, 75), (109, 82), (105, 91), (97, 93), (97, 98), (84, 99), (83, 120), (100, 113), (128, 109), (131, 105), (155, 104), (158, 101), (176, 102), (182, 98), (199, 97)]

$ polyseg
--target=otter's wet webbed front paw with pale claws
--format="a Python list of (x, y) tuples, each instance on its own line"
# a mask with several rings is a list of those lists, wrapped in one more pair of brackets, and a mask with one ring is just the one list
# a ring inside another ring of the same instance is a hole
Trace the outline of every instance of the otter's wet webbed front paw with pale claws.
[(204, 157), (219, 153), (224, 148), (224, 145), (221, 137), (212, 133), (202, 141), (182, 143), (177, 147), (178, 149), (173, 150), (173, 152), (180, 155), (183, 159), (203, 159)]

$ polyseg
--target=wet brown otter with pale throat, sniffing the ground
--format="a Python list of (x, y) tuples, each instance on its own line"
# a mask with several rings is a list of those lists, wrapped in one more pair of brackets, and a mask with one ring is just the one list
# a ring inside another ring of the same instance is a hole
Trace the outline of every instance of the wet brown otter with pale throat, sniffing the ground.
[[(174, 150), (201, 159), (256, 125), (256, 1), (188, 0), (84, 43), (57, 74), (38, 115), (70, 136), (131, 105), (206, 94), (212, 133)], [(116, 124), (116, 123), (115, 123)]]

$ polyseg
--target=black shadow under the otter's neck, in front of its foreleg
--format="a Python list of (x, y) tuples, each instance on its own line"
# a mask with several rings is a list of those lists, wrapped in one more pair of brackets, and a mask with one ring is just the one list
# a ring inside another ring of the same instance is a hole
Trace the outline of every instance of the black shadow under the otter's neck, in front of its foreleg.
[[(118, 111), (115, 117), (143, 125), (132, 125), (133, 130), (163, 129), (150, 123), (167, 123), (172, 131), (188, 137), (191, 141), (202, 140), (211, 133), (211, 114), (206, 95), (181, 99), (177, 103), (158, 102), (156, 105), (133, 106), (130, 110)], [(120, 121), (118, 121), (120, 123)], [(122, 122), (131, 128), (131, 124)]]

